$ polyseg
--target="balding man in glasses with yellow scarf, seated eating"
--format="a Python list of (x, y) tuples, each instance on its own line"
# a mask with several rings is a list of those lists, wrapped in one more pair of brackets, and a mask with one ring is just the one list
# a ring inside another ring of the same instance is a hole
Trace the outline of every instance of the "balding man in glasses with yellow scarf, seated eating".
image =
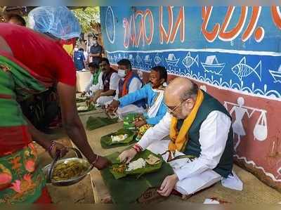
[[(225, 107), (186, 78), (171, 81), (164, 100), (168, 107), (164, 118), (148, 129), (133, 148), (122, 152), (121, 161), (130, 162), (145, 149), (162, 154), (174, 169), (157, 190), (165, 197), (173, 189), (190, 197), (231, 175), (233, 129)], [(169, 140), (163, 140), (165, 136)], [(192, 158), (179, 158), (181, 155)]]

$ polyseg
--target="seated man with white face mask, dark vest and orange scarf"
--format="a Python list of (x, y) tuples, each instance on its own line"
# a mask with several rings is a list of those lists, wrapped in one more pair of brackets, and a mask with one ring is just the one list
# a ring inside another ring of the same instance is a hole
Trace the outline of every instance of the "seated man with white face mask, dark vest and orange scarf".
[[(117, 102), (118, 98), (122, 98), (126, 96), (128, 93), (133, 93), (143, 86), (143, 82), (141, 81), (138, 74), (135, 74), (131, 70), (131, 62), (128, 59), (122, 59), (118, 61), (118, 75), (119, 86), (116, 91), (116, 95), (113, 101)], [(112, 101), (107, 103), (110, 105)], [(124, 107), (119, 107), (116, 111), (118, 116), (122, 119), (126, 114), (129, 113), (143, 113), (145, 112), (145, 100), (137, 100), (136, 102), (126, 105)]]

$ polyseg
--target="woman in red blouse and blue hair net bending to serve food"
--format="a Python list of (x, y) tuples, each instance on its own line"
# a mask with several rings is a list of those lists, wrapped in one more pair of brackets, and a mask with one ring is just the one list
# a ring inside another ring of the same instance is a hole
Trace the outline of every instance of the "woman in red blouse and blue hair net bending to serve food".
[(63, 48), (67, 40), (79, 37), (79, 22), (65, 6), (35, 8), (29, 22), (34, 30), (0, 23), (0, 204), (51, 201), (32, 140), (53, 156), (63, 155), (65, 148), (41, 138), (18, 105), (51, 86), (58, 90), (67, 135), (97, 169), (108, 164), (87, 141), (77, 114), (74, 63)]

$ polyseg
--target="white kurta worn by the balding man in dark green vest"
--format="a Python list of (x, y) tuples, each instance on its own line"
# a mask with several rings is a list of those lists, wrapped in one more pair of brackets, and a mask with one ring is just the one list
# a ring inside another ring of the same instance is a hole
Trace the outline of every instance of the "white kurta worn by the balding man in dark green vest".
[[(145, 132), (138, 145), (157, 154), (168, 150), (169, 140), (162, 139), (164, 137), (169, 139), (171, 117), (167, 112), (159, 124)], [(175, 186), (178, 192), (190, 195), (221, 181), (222, 177), (212, 169), (218, 165), (223, 155), (230, 125), (230, 118), (226, 114), (219, 111), (211, 112), (200, 127), (200, 157), (192, 161), (184, 158), (169, 162), (179, 179)], [(184, 154), (176, 152), (175, 156), (178, 155)], [(165, 154), (163, 157), (166, 160), (168, 155)]]

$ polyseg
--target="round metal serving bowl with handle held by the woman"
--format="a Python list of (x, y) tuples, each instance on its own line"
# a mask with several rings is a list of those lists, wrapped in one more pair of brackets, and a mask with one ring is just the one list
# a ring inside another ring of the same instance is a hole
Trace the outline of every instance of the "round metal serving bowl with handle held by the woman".
[[(91, 169), (93, 169), (93, 166), (91, 166), (91, 164), (89, 164), (89, 162), (86, 159), (83, 159), (81, 152), (79, 150), (77, 150), (76, 148), (73, 148), (73, 147), (70, 149), (74, 150), (74, 152), (76, 152), (77, 157), (71, 157), (71, 158), (65, 158), (65, 159), (58, 160), (58, 156), (57, 156), (57, 157), (55, 157), (55, 159), (53, 159), (53, 162), (51, 162), (51, 164), (48, 164), (47, 166), (45, 166), (42, 169), (47, 176), (47, 183), (52, 183), (53, 185), (57, 185), (57, 186), (73, 185), (73, 184), (81, 181), (83, 178), (85, 178), (87, 173), (89, 173), (91, 171)], [(56, 164), (67, 163), (67, 162), (72, 162), (72, 161), (80, 162), (81, 164), (86, 165), (88, 167), (88, 169), (86, 171), (84, 171), (84, 173), (82, 173), (81, 175), (75, 176), (74, 178), (70, 178), (70, 179), (63, 180), (63, 181), (52, 180), (53, 169), (55, 168)]]

